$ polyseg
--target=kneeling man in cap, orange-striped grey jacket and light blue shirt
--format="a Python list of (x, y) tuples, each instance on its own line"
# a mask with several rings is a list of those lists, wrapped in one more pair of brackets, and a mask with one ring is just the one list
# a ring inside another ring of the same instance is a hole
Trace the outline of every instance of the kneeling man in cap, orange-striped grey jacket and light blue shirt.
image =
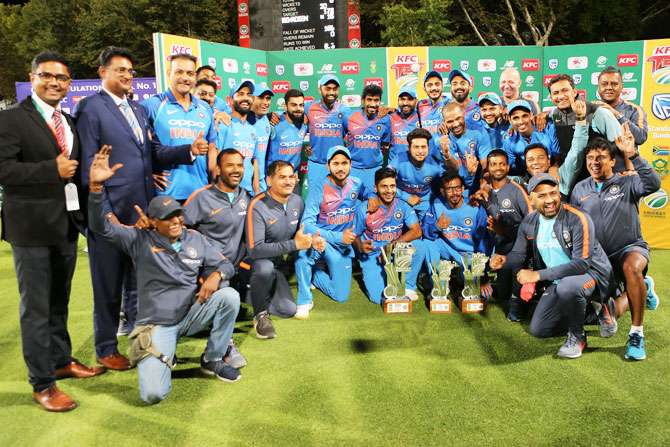
[[(519, 226), (514, 248), (495, 254), (492, 269), (521, 269), (520, 284), (549, 282), (530, 322), (534, 337), (546, 338), (567, 329), (560, 357), (578, 358), (586, 347), (586, 302), (607, 298), (612, 267), (595, 237), (588, 214), (561, 203), (558, 181), (548, 173), (530, 179), (528, 192), (537, 212)], [(524, 269), (527, 256), (536, 270)]]

